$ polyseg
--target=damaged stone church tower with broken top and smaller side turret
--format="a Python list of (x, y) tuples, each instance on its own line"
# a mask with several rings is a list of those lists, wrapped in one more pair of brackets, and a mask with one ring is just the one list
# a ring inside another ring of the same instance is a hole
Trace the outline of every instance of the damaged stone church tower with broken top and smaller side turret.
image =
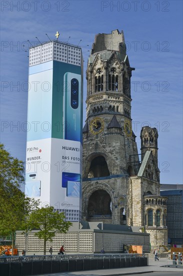
[[(88, 222), (138, 226), (151, 245), (167, 244), (156, 128), (131, 129), (130, 67), (123, 32), (98, 34), (88, 58), (83, 127), (82, 214)], [(145, 118), (146, 119), (146, 118)]]

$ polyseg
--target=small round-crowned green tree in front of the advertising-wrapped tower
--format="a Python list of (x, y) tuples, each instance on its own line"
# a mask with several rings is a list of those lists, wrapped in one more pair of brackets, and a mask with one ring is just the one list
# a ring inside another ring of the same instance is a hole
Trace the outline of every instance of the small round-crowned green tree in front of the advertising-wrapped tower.
[(43, 239), (44, 255), (46, 254), (46, 241), (52, 241), (57, 232), (66, 233), (72, 225), (69, 221), (64, 221), (64, 214), (55, 211), (52, 206), (45, 206), (32, 211), (28, 218), (30, 229), (37, 229), (35, 235)]

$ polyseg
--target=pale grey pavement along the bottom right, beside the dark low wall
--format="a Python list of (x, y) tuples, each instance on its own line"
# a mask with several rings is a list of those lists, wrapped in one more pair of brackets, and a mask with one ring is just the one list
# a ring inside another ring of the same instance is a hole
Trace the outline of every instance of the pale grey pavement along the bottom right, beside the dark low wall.
[[(85, 276), (120, 276), (120, 275), (133, 275), (149, 272), (172, 272), (171, 275), (176, 272), (182, 272), (182, 268), (177, 267), (164, 267), (163, 265), (171, 265), (172, 260), (167, 260), (166, 258), (159, 258), (159, 261), (154, 261), (151, 254), (149, 254), (148, 266), (139, 267), (126, 267), (126, 268), (115, 268), (115, 269), (101, 269), (101, 270), (87, 270), (87, 271), (73, 271), (73, 272), (63, 272), (63, 273), (52, 273), (52, 274), (41, 274), (37, 276), (74, 276), (74, 275), (85, 275)], [(183, 273), (183, 272), (182, 272)], [(169, 273), (167, 273), (168, 275)]]

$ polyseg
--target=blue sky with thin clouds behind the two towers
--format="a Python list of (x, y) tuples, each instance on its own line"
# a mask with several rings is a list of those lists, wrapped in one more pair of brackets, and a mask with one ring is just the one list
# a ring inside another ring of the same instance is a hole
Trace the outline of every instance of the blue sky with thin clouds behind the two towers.
[[(1, 1), (0, 141), (25, 161), (27, 40), (78, 44), (84, 57), (95, 34), (123, 30), (130, 66), (132, 125), (158, 130), (160, 183), (182, 184), (182, 1)], [(23, 46), (24, 45), (24, 46)], [(89, 46), (86, 46), (89, 45)], [(85, 104), (83, 106), (85, 119)], [(14, 127), (17, 125), (17, 127)]]

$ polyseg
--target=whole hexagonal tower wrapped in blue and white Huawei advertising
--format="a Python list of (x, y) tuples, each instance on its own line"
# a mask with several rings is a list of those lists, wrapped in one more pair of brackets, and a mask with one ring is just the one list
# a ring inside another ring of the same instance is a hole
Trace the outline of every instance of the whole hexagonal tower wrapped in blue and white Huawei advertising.
[[(52, 60), (45, 61), (41, 48), (48, 57), (51, 53)], [(25, 194), (40, 199), (41, 206), (48, 204), (64, 211), (66, 220), (78, 221), (82, 172), (81, 49), (57, 41), (31, 48), (28, 82), (27, 121), (31, 127), (27, 132)]]

